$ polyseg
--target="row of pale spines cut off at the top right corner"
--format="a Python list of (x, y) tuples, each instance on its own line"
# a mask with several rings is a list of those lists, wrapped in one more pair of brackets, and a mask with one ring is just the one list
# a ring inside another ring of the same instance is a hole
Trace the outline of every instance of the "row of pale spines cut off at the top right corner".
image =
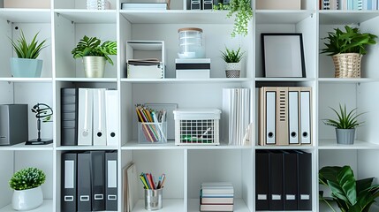
[(320, 0), (321, 10), (376, 11), (378, 0)]

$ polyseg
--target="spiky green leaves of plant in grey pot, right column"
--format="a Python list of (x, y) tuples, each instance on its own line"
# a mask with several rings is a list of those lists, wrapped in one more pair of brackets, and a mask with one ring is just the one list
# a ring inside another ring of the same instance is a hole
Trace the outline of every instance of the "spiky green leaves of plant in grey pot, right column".
[(336, 113), (337, 119), (325, 119), (323, 122), (325, 125), (331, 125), (336, 127), (337, 129), (352, 129), (363, 123), (358, 122), (357, 117), (360, 117), (364, 113), (357, 114), (356, 108), (350, 110), (350, 112), (347, 112), (346, 105), (342, 107), (342, 105), (339, 104), (339, 111), (333, 108), (330, 109)]

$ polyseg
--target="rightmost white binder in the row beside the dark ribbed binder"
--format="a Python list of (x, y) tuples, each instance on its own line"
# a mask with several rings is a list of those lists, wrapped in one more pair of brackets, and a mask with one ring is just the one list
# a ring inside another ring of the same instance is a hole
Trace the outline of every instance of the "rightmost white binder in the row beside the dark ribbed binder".
[(105, 116), (107, 117), (107, 146), (117, 146), (119, 139), (117, 90), (105, 91)]

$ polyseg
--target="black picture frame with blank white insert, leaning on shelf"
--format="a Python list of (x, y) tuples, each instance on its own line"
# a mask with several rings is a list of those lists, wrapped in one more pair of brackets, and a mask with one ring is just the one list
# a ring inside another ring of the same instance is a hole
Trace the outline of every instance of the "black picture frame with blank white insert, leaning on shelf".
[(300, 33), (263, 33), (262, 67), (265, 78), (306, 78)]

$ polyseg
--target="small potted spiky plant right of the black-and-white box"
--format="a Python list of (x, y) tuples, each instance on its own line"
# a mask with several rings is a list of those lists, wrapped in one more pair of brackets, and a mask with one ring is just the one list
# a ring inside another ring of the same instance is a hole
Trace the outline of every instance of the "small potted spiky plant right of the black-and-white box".
[(223, 57), (226, 66), (225, 73), (227, 78), (239, 78), (241, 72), (241, 59), (245, 52), (241, 51), (241, 48), (228, 49), (225, 47), (224, 51), (221, 51), (221, 57)]

